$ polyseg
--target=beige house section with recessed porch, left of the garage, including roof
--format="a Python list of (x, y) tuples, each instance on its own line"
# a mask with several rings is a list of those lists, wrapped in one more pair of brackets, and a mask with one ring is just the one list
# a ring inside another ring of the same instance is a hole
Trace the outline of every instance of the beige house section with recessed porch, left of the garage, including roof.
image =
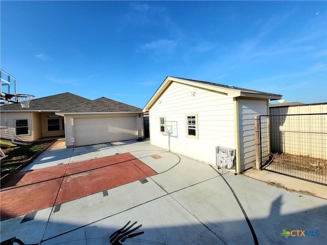
[(64, 136), (64, 118), (56, 112), (88, 101), (67, 92), (32, 100), (29, 108), (21, 108), (20, 104), (3, 105), (0, 107), (1, 136), (7, 136), (4, 129), (26, 141)]

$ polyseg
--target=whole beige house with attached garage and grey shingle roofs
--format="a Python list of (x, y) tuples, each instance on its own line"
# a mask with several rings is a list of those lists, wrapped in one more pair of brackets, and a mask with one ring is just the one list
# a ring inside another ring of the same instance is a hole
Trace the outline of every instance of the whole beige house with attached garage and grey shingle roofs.
[(0, 109), (2, 138), (10, 138), (8, 131), (25, 141), (65, 137), (66, 146), (74, 147), (144, 137), (142, 109), (105, 97), (90, 101), (62, 93), (32, 100), (30, 108)]

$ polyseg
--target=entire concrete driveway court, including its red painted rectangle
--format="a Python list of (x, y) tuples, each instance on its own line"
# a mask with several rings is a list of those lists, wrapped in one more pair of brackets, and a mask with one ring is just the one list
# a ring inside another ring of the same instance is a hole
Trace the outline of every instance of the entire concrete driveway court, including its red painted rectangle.
[(1, 190), (1, 241), (326, 244), (326, 200), (123, 141), (49, 149)]

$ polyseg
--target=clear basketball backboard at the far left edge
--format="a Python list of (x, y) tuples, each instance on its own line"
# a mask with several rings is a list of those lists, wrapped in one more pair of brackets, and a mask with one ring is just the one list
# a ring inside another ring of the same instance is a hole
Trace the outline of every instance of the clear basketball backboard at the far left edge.
[(0, 69), (0, 80), (1, 80), (1, 88), (0, 88), (1, 101), (17, 103), (16, 97), (11, 97), (10, 99), (8, 99), (8, 97), (6, 97), (6, 94), (15, 94), (16, 93), (17, 80), (13, 76), (8, 74), (6, 71), (1, 70), (1, 69)]

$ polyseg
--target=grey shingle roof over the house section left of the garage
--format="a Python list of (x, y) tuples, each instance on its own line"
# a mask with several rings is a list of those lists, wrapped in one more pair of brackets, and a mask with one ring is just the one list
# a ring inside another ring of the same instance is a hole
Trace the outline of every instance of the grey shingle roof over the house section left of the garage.
[(68, 107), (76, 106), (90, 101), (84, 97), (73, 93), (60, 93), (34, 99), (30, 102), (29, 108), (21, 108), (20, 104), (9, 104), (0, 107), (1, 111), (36, 111), (36, 110), (53, 110), (60, 111)]

